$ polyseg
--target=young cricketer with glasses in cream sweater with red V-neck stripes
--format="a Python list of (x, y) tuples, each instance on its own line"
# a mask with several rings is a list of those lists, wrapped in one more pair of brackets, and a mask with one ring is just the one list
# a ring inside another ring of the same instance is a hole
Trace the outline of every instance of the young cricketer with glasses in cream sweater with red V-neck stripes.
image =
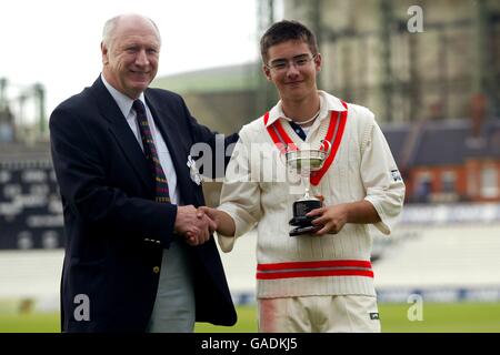
[[(404, 184), (390, 149), (373, 113), (318, 91), (321, 54), (309, 29), (278, 22), (260, 45), (281, 100), (241, 130), (221, 205), (203, 211), (218, 224), (224, 252), (257, 224), (260, 332), (380, 332), (368, 224), (389, 234), (402, 207)], [(323, 205), (308, 214), (318, 230), (290, 236), (303, 189), (293, 189), (280, 149), (318, 149), (322, 140), (331, 150), (311, 192)]]

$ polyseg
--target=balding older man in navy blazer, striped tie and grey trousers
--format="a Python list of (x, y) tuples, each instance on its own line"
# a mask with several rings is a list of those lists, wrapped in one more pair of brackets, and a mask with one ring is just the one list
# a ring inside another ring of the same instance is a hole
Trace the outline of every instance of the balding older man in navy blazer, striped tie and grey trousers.
[(216, 224), (197, 215), (202, 190), (187, 166), (191, 145), (214, 146), (216, 135), (178, 94), (148, 88), (160, 44), (148, 18), (109, 20), (102, 73), (50, 118), (67, 236), (64, 332), (191, 332), (196, 321), (236, 323), (210, 237)]

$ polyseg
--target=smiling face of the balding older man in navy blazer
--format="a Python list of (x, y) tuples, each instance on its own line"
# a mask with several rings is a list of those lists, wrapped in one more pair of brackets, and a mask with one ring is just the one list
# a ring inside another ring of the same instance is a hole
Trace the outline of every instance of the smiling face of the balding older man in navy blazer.
[(157, 74), (160, 39), (146, 19), (120, 20), (101, 51), (106, 80), (130, 99), (139, 98)]

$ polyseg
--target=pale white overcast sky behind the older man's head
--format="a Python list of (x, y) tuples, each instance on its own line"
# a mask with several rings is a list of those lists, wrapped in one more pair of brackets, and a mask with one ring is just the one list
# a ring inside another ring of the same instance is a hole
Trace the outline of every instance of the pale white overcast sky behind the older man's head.
[[(98, 78), (102, 26), (119, 13), (138, 12), (159, 27), (157, 77), (258, 59), (256, 0), (10, 0), (1, 7), (7, 94), (40, 82), (48, 114)], [(34, 109), (27, 106), (30, 120)]]

